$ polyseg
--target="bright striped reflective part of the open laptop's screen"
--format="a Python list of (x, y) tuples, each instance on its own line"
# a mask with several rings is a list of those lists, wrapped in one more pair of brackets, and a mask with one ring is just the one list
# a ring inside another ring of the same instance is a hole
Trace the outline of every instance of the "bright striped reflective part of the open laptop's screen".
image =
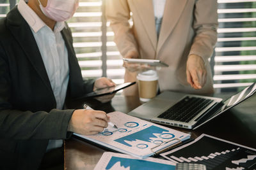
[(236, 106), (236, 104), (241, 103), (248, 97), (252, 96), (256, 92), (256, 83), (252, 83), (249, 87), (246, 87), (241, 92), (229, 97), (226, 101), (224, 101), (224, 105), (221, 108), (221, 112)]

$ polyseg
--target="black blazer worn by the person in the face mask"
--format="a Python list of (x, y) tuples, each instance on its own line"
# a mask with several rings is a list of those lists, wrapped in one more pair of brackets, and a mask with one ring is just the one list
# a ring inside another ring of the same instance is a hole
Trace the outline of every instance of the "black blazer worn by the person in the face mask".
[[(66, 103), (93, 89), (84, 81), (70, 29), (61, 31), (68, 50)], [(17, 6), (0, 20), (0, 169), (37, 169), (49, 139), (66, 139), (74, 110), (56, 101), (35, 38)]]

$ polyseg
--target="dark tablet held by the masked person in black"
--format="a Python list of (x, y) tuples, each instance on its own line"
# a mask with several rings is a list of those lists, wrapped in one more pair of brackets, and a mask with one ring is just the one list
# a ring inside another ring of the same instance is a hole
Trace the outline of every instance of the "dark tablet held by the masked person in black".
[(131, 85), (134, 85), (136, 83), (136, 81), (133, 82), (129, 82), (129, 83), (122, 83), (122, 84), (118, 84), (116, 86), (113, 87), (106, 87), (106, 88), (102, 88), (102, 89), (97, 89), (93, 92), (90, 92), (88, 94), (85, 94), (83, 97), (79, 97), (79, 98), (89, 98), (89, 97), (99, 97), (99, 96), (104, 96), (104, 95), (108, 95), (108, 94), (113, 94), (119, 90), (125, 89)]

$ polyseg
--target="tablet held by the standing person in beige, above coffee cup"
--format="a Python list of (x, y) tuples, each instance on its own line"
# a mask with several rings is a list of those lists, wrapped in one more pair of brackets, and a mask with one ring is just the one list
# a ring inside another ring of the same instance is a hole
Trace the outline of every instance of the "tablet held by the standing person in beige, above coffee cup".
[(150, 66), (158, 66), (158, 67), (169, 67), (168, 64), (162, 62), (161, 60), (150, 60), (150, 59), (125, 59), (125, 62), (129, 63), (137, 63), (137, 64), (148, 64)]

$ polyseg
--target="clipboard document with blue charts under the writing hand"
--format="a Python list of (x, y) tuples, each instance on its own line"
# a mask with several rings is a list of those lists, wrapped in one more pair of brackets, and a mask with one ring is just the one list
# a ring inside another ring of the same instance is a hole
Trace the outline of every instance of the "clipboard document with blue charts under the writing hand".
[(99, 134), (75, 135), (140, 159), (150, 157), (159, 150), (190, 138), (190, 134), (147, 122), (118, 111), (108, 113), (108, 116), (118, 129), (109, 125)]

